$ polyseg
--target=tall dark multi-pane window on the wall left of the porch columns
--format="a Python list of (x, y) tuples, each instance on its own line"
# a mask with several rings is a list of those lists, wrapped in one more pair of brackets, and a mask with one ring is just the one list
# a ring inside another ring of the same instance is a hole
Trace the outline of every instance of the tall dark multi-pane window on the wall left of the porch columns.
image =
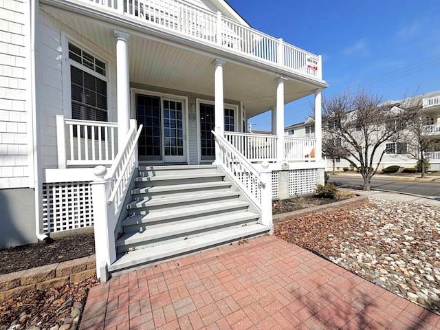
[(107, 65), (69, 43), (72, 119), (106, 122)]

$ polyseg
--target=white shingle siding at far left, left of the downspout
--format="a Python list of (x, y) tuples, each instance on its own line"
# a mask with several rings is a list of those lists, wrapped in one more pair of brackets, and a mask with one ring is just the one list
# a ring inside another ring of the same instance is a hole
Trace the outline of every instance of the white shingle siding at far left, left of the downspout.
[(23, 1), (0, 8), (0, 188), (29, 186)]

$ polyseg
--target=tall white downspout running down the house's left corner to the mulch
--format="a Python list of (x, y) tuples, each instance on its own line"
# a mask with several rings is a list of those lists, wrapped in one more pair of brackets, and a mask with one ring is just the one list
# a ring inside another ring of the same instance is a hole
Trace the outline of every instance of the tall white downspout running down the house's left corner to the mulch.
[(36, 84), (36, 70), (38, 59), (36, 45), (38, 44), (38, 25), (39, 25), (39, 0), (30, 0), (30, 20), (29, 20), (29, 35), (30, 35), (30, 98), (31, 98), (31, 115), (32, 115), (32, 156), (33, 156), (33, 170), (34, 170), (34, 192), (35, 192), (35, 235), (40, 241), (44, 241), (49, 236), (43, 232), (43, 184), (42, 184), (42, 170), (41, 170), (41, 147), (38, 137), (40, 136), (40, 116), (37, 111), (39, 94), (36, 92), (38, 84)]

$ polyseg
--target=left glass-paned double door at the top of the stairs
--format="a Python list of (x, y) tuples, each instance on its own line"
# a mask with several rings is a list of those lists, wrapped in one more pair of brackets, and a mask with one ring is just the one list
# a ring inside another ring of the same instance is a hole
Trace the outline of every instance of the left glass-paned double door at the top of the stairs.
[(141, 161), (186, 162), (184, 102), (136, 94), (137, 123), (144, 125), (139, 137)]

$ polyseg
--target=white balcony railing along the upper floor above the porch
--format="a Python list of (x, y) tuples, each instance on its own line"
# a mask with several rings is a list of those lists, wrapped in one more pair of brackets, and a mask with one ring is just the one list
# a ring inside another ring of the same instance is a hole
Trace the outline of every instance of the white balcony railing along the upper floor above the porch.
[(241, 54), (322, 79), (321, 57), (258, 30), (179, 0), (83, 0), (89, 5), (131, 17), (143, 24), (160, 25)]

